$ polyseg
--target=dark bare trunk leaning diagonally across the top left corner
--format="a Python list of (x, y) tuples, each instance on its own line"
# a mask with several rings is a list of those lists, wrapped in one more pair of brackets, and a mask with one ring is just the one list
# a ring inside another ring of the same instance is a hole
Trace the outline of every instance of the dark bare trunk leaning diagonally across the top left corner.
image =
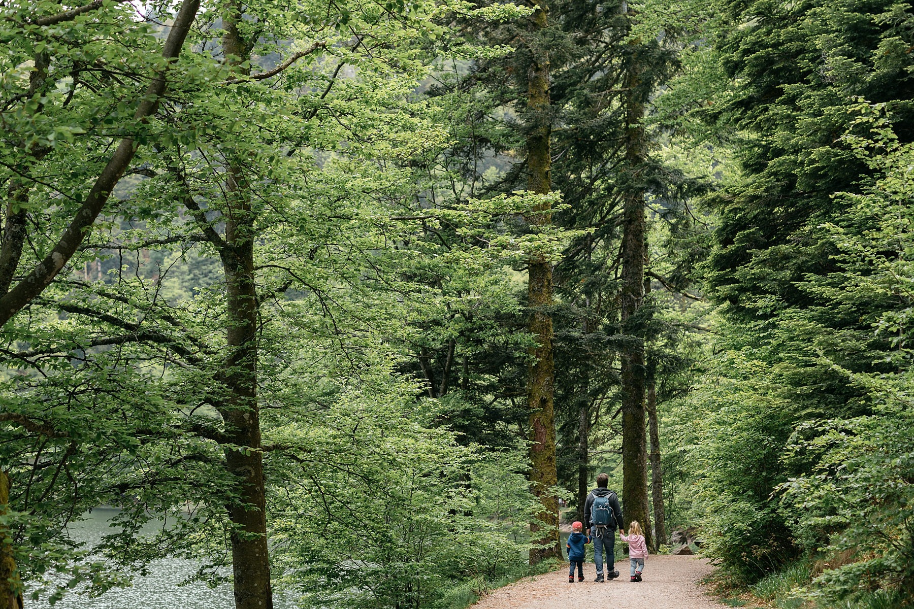
[[(184, 41), (190, 31), (190, 26), (197, 17), (199, 7), (199, 0), (185, 0), (181, 4), (175, 17), (175, 23), (171, 26), (168, 37), (165, 39), (165, 47), (162, 49), (164, 58), (174, 60), (178, 57), (181, 48), (184, 47)], [(150, 80), (149, 86), (146, 88), (145, 94), (133, 114), (134, 120), (142, 121), (154, 114), (158, 108), (159, 100), (165, 93), (166, 85), (166, 71), (159, 72)], [(98, 217), (102, 208), (108, 202), (108, 197), (111, 196), (114, 186), (130, 165), (135, 152), (136, 144), (133, 142), (133, 138), (124, 138), (104, 169), (101, 170), (101, 174), (96, 179), (95, 184), (92, 184), (86, 200), (73, 215), (69, 226), (60, 236), (57, 245), (51, 248), (48, 256), (33, 268), (25, 278), (16, 283), (13, 289), (10, 289), (0, 298), (0, 326), (9, 321), (19, 310), (37, 297), (42, 290), (47, 288), (48, 284), (58, 276), (60, 270), (73, 257), (82, 241), (89, 235), (90, 227), (95, 223), (95, 218)]]

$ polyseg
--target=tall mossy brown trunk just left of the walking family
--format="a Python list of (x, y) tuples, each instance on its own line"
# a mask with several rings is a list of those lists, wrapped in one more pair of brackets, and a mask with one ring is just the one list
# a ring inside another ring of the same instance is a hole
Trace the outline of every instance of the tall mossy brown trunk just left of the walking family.
[[(533, 30), (538, 32), (548, 25), (547, 5), (536, 2)], [(527, 190), (547, 194), (552, 190), (549, 170), (551, 166), (549, 138), (549, 57), (541, 48), (531, 48), (531, 65), (527, 72)], [(533, 224), (543, 226), (551, 222), (547, 206), (537, 208)], [(528, 263), (530, 333), (537, 339), (536, 358), (530, 370), (527, 404), (530, 409), (530, 486), (542, 503), (537, 515), (542, 525), (534, 523), (531, 534), (535, 543), (544, 547), (530, 551), (530, 563), (536, 564), (547, 557), (561, 558), (558, 541), (558, 498), (550, 490), (558, 482), (556, 470), (556, 425), (553, 404), (555, 367), (552, 359), (552, 264), (542, 258)]]

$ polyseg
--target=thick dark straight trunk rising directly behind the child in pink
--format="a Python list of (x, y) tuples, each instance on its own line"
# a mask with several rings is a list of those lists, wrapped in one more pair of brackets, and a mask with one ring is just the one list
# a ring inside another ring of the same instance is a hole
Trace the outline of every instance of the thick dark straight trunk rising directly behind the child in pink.
[(647, 491), (647, 429), (644, 408), (644, 343), (632, 317), (643, 303), (645, 229), (644, 187), (639, 178), (646, 161), (642, 119), (646, 99), (642, 85), (643, 66), (638, 43), (625, 76), (625, 171), (622, 231), (622, 328), (629, 336), (622, 352), (622, 500), (625, 526), (641, 523), (647, 546), (653, 546), (650, 503)]

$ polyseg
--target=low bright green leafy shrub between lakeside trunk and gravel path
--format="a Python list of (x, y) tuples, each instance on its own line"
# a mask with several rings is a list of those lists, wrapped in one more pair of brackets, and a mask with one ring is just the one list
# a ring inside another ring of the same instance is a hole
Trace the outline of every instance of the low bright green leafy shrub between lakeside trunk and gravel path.
[(272, 499), (280, 581), (303, 606), (431, 606), (456, 583), (495, 582), (525, 562), (537, 503), (524, 452), (485, 455), (410, 425), (409, 404), (401, 417), (392, 407), (374, 406), (391, 421), (383, 430), (366, 404), (283, 429), (314, 455), (278, 472)]

